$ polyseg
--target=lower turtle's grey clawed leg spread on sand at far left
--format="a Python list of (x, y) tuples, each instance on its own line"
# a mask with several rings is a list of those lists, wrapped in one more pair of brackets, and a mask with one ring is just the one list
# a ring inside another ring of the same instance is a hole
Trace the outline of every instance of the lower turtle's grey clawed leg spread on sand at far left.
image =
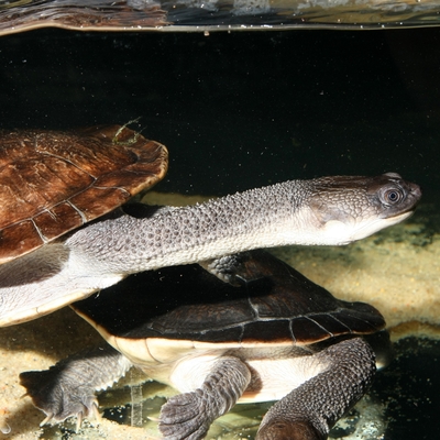
[(45, 371), (20, 374), (32, 403), (46, 414), (41, 424), (61, 422), (70, 416), (98, 417), (95, 392), (119, 381), (132, 366), (130, 361), (109, 344), (77, 353)]

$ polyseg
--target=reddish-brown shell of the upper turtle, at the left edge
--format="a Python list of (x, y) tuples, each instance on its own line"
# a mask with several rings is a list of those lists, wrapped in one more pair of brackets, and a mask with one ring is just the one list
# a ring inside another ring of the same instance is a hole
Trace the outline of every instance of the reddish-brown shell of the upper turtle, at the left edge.
[(113, 210), (167, 165), (164, 145), (119, 125), (0, 132), (0, 264)]

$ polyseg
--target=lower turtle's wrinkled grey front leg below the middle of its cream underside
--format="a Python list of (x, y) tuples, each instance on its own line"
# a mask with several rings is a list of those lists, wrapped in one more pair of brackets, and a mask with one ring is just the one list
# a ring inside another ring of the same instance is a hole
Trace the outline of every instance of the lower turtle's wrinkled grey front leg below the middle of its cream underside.
[(237, 358), (221, 358), (200, 388), (178, 394), (162, 407), (160, 430), (166, 440), (197, 440), (212, 421), (228, 413), (251, 381), (248, 366)]

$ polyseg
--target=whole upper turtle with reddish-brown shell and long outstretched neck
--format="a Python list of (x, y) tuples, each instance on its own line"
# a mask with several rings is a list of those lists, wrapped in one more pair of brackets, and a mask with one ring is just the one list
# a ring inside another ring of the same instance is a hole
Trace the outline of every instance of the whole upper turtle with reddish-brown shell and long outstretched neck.
[[(346, 244), (407, 218), (421, 196), (417, 185), (395, 173), (321, 177), (191, 207), (152, 207), (139, 216), (117, 210), (84, 224), (157, 182), (167, 155), (164, 146), (125, 128), (89, 132), (79, 152), (77, 142), (53, 132), (0, 136), (0, 217), (9, 219), (0, 231), (0, 255), (7, 262), (0, 265), (0, 327), (48, 314), (131, 273), (258, 248)], [(134, 147), (145, 143), (147, 158), (140, 161)], [(133, 160), (128, 169), (116, 146)], [(45, 150), (50, 153), (42, 154)], [(116, 177), (106, 174), (111, 167)], [(82, 174), (86, 178), (77, 176)], [(64, 178), (67, 185), (61, 185)]]

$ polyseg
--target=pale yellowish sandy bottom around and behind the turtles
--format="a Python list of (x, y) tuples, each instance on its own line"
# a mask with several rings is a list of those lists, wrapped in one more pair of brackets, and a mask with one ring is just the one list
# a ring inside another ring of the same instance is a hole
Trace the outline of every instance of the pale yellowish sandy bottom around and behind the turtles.
[[(176, 198), (169, 197), (151, 193), (148, 202), (176, 204)], [(182, 202), (187, 204), (188, 199)], [(276, 249), (274, 253), (334, 296), (374, 305), (385, 316), (394, 340), (408, 334), (438, 338), (440, 233), (436, 226), (440, 222), (432, 209), (429, 205), (421, 206), (404, 224), (344, 248), (288, 248)], [(19, 384), (19, 374), (47, 369), (59, 359), (98, 341), (99, 336), (68, 308), (32, 322), (0, 329), (0, 429), (4, 432), (0, 438), (70, 438), (68, 432), (75, 426), (68, 422), (65, 427), (38, 428), (44, 416), (28, 397), (21, 398), (24, 388)], [(134, 382), (140, 380), (135, 373), (129, 376)], [(105, 407), (124, 405), (131, 402), (131, 393), (129, 387), (111, 391), (100, 397), (100, 403)], [(150, 397), (166, 397), (172, 391), (150, 383), (143, 393)], [(151, 398), (144, 404), (138, 402), (134, 410), (141, 411), (143, 405), (143, 410), (154, 419), (163, 402), (163, 398)], [(223, 433), (224, 438), (226, 431), (235, 438), (246, 437), (248, 431), (258, 425), (263, 411), (264, 407), (258, 405), (243, 406), (238, 413), (220, 419), (209, 437), (218, 438)], [(118, 419), (118, 414), (112, 417)], [(120, 417), (125, 417), (123, 410)], [(155, 426), (154, 420), (148, 422), (145, 433), (144, 428), (103, 419), (99, 428), (86, 428), (72, 438), (154, 438), (158, 436)]]

